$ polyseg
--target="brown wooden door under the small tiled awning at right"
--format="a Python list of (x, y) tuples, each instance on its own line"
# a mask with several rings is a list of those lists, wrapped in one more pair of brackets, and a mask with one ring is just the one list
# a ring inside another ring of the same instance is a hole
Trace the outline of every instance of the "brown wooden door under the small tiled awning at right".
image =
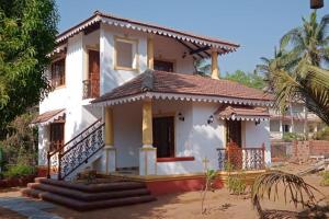
[(226, 122), (226, 139), (227, 139), (227, 155), (228, 162), (235, 170), (242, 168), (242, 138), (241, 138), (241, 122), (227, 120)]

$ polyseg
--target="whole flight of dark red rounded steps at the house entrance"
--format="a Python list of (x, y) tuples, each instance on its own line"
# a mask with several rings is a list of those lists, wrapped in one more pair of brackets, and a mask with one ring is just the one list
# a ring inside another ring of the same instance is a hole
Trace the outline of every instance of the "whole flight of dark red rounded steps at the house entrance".
[(144, 183), (114, 182), (81, 184), (36, 178), (21, 191), (22, 195), (56, 203), (76, 210), (93, 210), (156, 200)]

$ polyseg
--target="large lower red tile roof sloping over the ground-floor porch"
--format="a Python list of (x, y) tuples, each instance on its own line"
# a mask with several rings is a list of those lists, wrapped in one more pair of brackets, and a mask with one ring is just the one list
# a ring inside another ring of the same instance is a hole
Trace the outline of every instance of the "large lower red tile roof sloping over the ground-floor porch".
[(201, 76), (147, 70), (123, 85), (92, 101), (92, 103), (133, 96), (146, 92), (273, 101), (271, 94), (229, 80), (215, 80)]

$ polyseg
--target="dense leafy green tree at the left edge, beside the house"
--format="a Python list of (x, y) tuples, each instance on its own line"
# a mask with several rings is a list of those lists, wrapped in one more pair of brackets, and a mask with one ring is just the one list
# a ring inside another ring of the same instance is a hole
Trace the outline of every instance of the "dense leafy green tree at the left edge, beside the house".
[(57, 34), (55, 0), (0, 0), (0, 139), (50, 90), (43, 73)]

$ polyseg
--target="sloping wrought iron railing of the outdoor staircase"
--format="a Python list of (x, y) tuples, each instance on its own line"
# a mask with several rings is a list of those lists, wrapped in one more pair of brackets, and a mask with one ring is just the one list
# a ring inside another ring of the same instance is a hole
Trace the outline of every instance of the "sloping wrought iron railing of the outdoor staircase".
[(104, 147), (104, 123), (98, 119), (55, 151), (47, 152), (47, 177), (64, 180)]

